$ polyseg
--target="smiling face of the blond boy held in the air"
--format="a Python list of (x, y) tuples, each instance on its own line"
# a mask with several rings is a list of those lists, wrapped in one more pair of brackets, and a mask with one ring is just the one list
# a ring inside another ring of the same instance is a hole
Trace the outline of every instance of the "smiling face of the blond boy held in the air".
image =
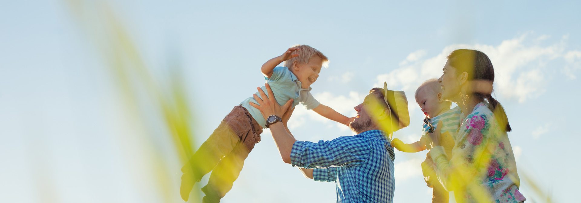
[(309, 59), (309, 63), (306, 64), (293, 64), (293, 73), (301, 82), (301, 88), (309, 88), (321, 72), (321, 67), (323, 66), (323, 60), (320, 57), (312, 57)]

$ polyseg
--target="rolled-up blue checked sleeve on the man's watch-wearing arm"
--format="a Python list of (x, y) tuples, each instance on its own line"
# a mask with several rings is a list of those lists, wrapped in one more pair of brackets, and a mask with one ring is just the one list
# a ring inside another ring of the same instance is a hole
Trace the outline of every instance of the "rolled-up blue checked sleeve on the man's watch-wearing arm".
[(297, 141), (290, 151), (290, 164), (307, 169), (359, 165), (367, 160), (369, 149), (368, 140), (356, 136), (317, 143)]

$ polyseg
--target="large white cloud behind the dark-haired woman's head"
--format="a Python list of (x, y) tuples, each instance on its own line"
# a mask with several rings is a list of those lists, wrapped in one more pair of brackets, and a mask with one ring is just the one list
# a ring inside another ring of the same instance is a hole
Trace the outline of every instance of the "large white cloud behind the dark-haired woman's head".
[[(547, 35), (536, 39), (529, 39), (529, 34), (523, 34), (514, 39), (507, 39), (500, 44), (454, 44), (446, 46), (436, 56), (422, 60), (426, 55), (424, 50), (410, 53), (395, 70), (378, 75), (375, 86), (383, 86), (388, 82), (389, 89), (399, 89), (406, 92), (408, 97), (413, 95), (415, 88), (430, 78), (439, 78), (442, 67), (446, 63), (446, 56), (455, 49), (478, 49), (490, 57), (495, 71), (495, 93), (507, 99), (515, 99), (522, 103), (533, 99), (544, 92), (547, 83), (545, 68), (549, 61), (564, 58), (568, 63), (564, 67), (566, 74), (572, 75), (581, 69), (581, 52), (569, 51), (565, 53), (568, 36), (551, 45), (539, 46), (536, 41), (546, 40)], [(408, 98), (413, 99), (413, 98)]]

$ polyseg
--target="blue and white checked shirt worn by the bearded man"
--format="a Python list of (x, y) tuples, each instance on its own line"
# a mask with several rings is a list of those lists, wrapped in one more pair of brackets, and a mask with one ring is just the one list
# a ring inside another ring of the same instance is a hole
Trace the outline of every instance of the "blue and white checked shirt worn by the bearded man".
[(392, 202), (395, 155), (383, 131), (318, 143), (297, 141), (290, 164), (314, 168), (315, 181), (336, 182), (337, 202)]

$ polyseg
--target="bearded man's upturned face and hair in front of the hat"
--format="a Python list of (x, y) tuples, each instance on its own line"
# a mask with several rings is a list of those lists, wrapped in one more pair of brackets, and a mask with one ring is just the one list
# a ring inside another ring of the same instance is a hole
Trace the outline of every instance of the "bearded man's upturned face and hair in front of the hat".
[(369, 95), (365, 96), (363, 103), (355, 107), (357, 116), (353, 122), (349, 124), (349, 127), (353, 132), (359, 134), (376, 128), (375, 122), (372, 121), (374, 118), (372, 118), (373, 116), (371, 113), (374, 109), (378, 110), (377, 101), (377, 96), (374, 93), (370, 93)]

